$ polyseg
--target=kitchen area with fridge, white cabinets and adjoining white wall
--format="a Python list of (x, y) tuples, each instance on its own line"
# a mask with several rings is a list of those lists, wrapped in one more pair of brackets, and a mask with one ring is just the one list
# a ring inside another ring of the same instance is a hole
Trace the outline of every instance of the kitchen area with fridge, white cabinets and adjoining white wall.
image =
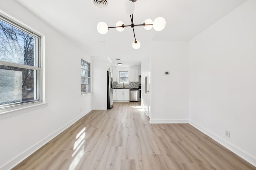
[(93, 57), (92, 109), (111, 109), (115, 102), (140, 102), (140, 75), (140, 64), (120, 66), (109, 59)]

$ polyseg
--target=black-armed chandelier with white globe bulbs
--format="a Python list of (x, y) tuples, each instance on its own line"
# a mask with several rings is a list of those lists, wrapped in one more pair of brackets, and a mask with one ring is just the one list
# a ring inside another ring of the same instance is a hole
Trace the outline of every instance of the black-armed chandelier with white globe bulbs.
[(134, 27), (143, 26), (146, 30), (150, 30), (153, 27), (156, 31), (162, 31), (166, 25), (166, 21), (164, 20), (164, 18), (158, 17), (154, 20), (154, 22), (150, 19), (147, 19), (144, 21), (144, 23), (135, 25), (133, 23), (133, 12), (135, 10), (134, 2), (136, 2), (136, 0), (128, 0), (127, 2), (124, 3), (124, 12), (130, 15), (131, 22), (132, 22), (131, 25), (125, 25), (122, 21), (118, 21), (115, 27), (108, 27), (108, 25), (105, 22), (99, 22), (97, 25), (97, 30), (100, 34), (106, 34), (109, 28), (116, 28), (117, 31), (121, 32), (121, 31), (124, 31), (125, 27), (132, 27), (133, 35), (135, 39), (135, 41), (132, 42), (132, 47), (134, 49), (139, 49), (140, 41), (136, 40)]

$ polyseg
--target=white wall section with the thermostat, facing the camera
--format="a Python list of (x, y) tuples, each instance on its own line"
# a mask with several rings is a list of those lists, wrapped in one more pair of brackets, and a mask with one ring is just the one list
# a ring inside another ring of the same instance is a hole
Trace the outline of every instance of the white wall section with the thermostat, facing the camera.
[[(188, 42), (152, 42), (150, 59), (150, 122), (188, 123)], [(142, 102), (145, 106), (150, 102), (147, 99), (150, 94), (144, 94), (147, 64), (148, 57), (142, 61)], [(164, 75), (165, 71), (170, 75)]]

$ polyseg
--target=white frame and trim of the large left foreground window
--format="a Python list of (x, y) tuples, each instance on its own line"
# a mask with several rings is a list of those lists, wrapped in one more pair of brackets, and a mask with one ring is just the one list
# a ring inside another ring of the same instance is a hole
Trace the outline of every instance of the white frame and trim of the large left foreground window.
[[(35, 49), (36, 55), (38, 55), (36, 58), (36, 65), (38, 66), (29, 66), (26, 64), (19, 64), (19, 63), (12, 63), (8, 61), (0, 61), (1, 65), (4, 66), (13, 66), (18, 68), (25, 68), (25, 69), (31, 69), (35, 71), (40, 71), (38, 74), (39, 78), (37, 81), (38, 86), (36, 87), (36, 91), (39, 92), (39, 98), (35, 101), (28, 101), (28, 102), (19, 102), (14, 104), (6, 104), (0, 106), (0, 119), (2, 118), (2, 115), (10, 114), (11, 112), (20, 112), (20, 110), (35, 107), (35, 106), (41, 106), (46, 103), (46, 96), (45, 96), (45, 72), (44, 72), (44, 42), (45, 42), (45, 36), (42, 33), (39, 33), (38, 31), (32, 29), (31, 27), (27, 26), (26, 24), (16, 20), (12, 16), (0, 11), (0, 20), (3, 22), (11, 25), (12, 27), (15, 27), (16, 29), (19, 29), (33, 37), (36, 37), (35, 42), (38, 43), (37, 48)], [(36, 75), (35, 75), (36, 76)], [(16, 114), (15, 114), (16, 115)], [(11, 115), (10, 115), (11, 116)]]

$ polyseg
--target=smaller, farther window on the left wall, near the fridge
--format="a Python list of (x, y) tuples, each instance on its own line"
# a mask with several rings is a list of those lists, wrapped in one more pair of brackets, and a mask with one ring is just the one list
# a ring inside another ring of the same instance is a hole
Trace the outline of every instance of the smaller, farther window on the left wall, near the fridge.
[(81, 59), (81, 94), (90, 93), (90, 64)]

